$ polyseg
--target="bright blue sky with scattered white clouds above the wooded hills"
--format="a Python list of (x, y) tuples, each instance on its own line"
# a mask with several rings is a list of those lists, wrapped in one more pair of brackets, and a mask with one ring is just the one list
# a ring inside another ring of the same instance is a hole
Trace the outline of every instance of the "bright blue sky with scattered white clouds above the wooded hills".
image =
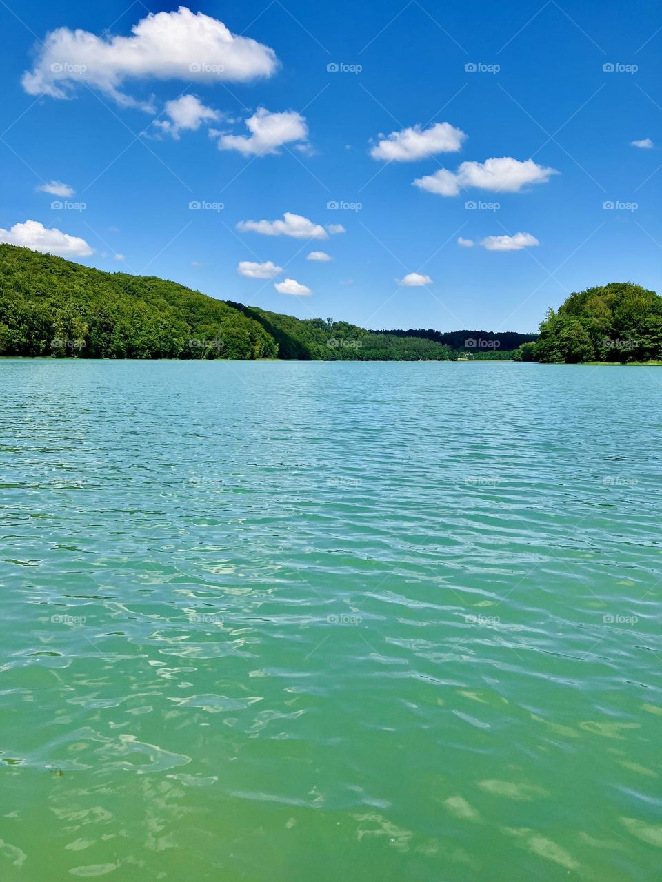
[(190, 10), (3, 0), (0, 239), (377, 328), (662, 291), (659, 4)]

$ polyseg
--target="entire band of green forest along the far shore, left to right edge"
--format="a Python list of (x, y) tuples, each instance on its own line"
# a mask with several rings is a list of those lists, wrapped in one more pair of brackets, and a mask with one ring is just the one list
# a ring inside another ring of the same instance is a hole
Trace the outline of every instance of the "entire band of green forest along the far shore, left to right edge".
[(588, 288), (549, 310), (538, 335), (368, 331), (0, 244), (0, 355), (651, 363), (662, 360), (662, 297), (631, 282)]

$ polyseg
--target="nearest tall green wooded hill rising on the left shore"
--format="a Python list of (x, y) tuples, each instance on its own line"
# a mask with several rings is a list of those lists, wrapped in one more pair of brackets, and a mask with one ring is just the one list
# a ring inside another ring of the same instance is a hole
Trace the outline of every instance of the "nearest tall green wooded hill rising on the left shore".
[(183, 285), (3, 244), (0, 354), (244, 359), (277, 347), (259, 322)]

